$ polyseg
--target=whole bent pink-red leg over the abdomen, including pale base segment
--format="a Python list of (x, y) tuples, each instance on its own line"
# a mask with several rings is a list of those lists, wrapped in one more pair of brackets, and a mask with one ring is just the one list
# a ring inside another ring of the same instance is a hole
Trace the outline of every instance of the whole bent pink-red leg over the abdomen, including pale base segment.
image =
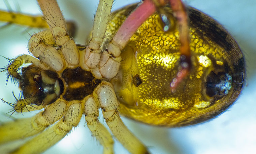
[[(119, 28), (113, 39), (107, 46), (107, 50), (101, 54), (99, 63), (100, 74), (105, 78), (116, 76), (121, 63), (121, 50), (130, 40), (138, 27), (152, 15), (157, 7), (168, 3), (164, 0), (145, 0), (139, 5)], [(169, 0), (173, 14), (177, 19), (180, 31), (181, 63), (176, 77), (172, 80), (171, 91), (175, 92), (178, 84), (189, 74), (191, 68), (191, 53), (189, 49), (188, 17), (181, 0)], [(107, 71), (106, 71), (107, 70)]]

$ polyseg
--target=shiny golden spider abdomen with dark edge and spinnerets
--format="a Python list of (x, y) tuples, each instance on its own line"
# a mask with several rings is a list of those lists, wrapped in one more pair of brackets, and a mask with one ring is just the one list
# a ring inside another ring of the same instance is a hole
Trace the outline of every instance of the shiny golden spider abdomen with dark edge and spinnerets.
[[(110, 37), (132, 7), (114, 14)], [(172, 18), (170, 8), (165, 9)], [(187, 9), (190, 74), (171, 92), (180, 66), (179, 31), (171, 20), (174, 28), (164, 32), (159, 14), (153, 14), (123, 49), (120, 72), (112, 80), (123, 115), (153, 125), (185, 126), (217, 116), (237, 99), (245, 79), (241, 49), (213, 18)]]

